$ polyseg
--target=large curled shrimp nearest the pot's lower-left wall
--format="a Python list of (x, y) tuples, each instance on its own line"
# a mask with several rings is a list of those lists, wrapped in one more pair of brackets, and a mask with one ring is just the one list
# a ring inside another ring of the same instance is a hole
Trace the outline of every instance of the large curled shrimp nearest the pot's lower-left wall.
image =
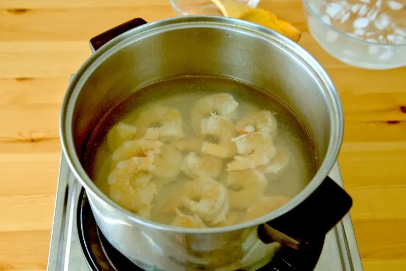
[(151, 202), (157, 188), (151, 183), (155, 166), (148, 157), (132, 157), (120, 161), (109, 174), (109, 195), (117, 204), (145, 218), (149, 218)]

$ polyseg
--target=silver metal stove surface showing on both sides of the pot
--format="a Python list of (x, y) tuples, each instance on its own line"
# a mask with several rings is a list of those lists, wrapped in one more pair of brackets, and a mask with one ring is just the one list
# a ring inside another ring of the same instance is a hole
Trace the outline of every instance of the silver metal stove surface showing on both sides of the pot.
[[(341, 186), (343, 185), (340, 169), (337, 163), (329, 173), (329, 176), (337, 184)], [(80, 238), (80, 236), (82, 236), (82, 231), (78, 227), (78, 220), (80, 220), (78, 214), (83, 212), (82, 191), (82, 186), (78, 180), (76, 180), (62, 155), (55, 202), (54, 221), (51, 231), (48, 271), (92, 270), (88, 262), (89, 256), (86, 257), (82, 250), (83, 242), (81, 244)], [(101, 236), (101, 239), (103, 239), (103, 236)], [(103, 246), (102, 248), (103, 250), (105, 249)], [(108, 267), (106, 269), (101, 269), (110, 270), (111, 268)], [(116, 268), (113, 267), (113, 269)], [(320, 259), (314, 270), (362, 271), (361, 260), (349, 214), (347, 214), (345, 218), (326, 235)]]

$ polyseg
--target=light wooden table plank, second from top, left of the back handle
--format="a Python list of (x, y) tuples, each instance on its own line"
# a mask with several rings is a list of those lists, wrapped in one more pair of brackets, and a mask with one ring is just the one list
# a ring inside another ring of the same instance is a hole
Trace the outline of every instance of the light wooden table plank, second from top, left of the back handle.
[(154, 6), (32, 9), (17, 13), (3, 9), (0, 10), (0, 41), (88, 41), (135, 17), (155, 21), (166, 14), (175, 15), (170, 6), (160, 6), (159, 10)]

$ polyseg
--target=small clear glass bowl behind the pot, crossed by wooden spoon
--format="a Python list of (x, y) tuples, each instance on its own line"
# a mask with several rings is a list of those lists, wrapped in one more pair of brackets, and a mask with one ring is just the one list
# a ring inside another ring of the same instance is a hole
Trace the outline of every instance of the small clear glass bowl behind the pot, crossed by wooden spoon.
[[(235, 0), (251, 8), (256, 8), (259, 0)], [(210, 0), (170, 0), (171, 6), (179, 16), (223, 14)]]

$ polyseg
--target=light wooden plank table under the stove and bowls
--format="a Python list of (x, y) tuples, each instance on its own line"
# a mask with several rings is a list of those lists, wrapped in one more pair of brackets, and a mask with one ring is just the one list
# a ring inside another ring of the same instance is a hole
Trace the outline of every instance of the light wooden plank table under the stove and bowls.
[[(148, 4), (144, 4), (147, 3)], [(345, 110), (340, 166), (354, 198), (364, 269), (406, 270), (406, 69), (367, 71), (323, 51), (299, 0), (263, 0), (303, 31)], [(0, 270), (45, 270), (58, 178), (58, 117), (88, 40), (133, 17), (174, 16), (168, 0), (0, 1)]]

